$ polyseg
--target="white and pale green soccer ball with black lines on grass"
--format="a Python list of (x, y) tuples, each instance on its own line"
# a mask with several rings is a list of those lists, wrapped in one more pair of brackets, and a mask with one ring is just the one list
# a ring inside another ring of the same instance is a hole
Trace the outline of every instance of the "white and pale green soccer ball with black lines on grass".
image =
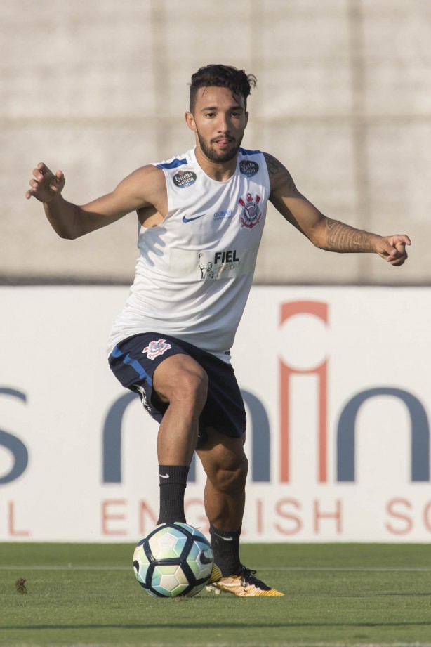
[(213, 551), (202, 533), (187, 523), (157, 525), (133, 554), (133, 570), (141, 587), (159, 598), (193, 596), (207, 584)]

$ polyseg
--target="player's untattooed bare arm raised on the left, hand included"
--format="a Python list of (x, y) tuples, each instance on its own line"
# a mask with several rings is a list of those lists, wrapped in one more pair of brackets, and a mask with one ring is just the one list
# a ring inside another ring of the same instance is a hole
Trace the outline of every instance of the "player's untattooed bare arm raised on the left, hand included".
[(33, 176), (25, 197), (28, 200), (34, 196), (44, 204), (49, 223), (62, 238), (84, 236), (138, 209), (154, 207), (162, 215), (167, 211), (166, 181), (157, 166), (142, 166), (124, 178), (111, 193), (81, 206), (62, 197), (65, 186), (62, 171), (53, 174), (41, 162)]

